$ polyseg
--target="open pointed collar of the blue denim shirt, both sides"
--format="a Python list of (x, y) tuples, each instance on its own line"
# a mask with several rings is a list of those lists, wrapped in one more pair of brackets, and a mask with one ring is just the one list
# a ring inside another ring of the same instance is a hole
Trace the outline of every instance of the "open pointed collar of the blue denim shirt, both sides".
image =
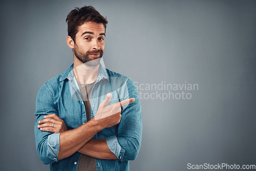
[[(62, 77), (60, 77), (59, 79), (60, 82), (65, 80), (66, 78), (69, 80), (72, 80), (72, 79), (74, 80), (75, 76), (73, 73), (73, 67), (74, 67), (74, 63), (65, 71), (65, 73), (63, 73)], [(106, 72), (106, 69), (101, 65), (101, 63), (99, 63), (99, 75), (96, 82), (99, 82), (102, 78), (105, 78), (110, 81), (110, 77)]]

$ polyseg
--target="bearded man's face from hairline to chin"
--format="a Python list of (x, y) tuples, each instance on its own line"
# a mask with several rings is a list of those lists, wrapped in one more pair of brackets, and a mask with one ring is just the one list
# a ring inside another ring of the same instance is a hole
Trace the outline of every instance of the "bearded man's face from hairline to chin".
[(99, 65), (105, 47), (105, 28), (101, 23), (86, 22), (78, 27), (74, 54), (89, 66)]

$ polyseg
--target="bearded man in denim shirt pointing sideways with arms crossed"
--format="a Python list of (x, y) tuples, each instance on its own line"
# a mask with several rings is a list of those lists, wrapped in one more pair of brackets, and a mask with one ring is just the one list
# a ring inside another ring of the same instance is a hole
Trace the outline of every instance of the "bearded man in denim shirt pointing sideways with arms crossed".
[(136, 86), (101, 65), (108, 22), (98, 11), (75, 8), (66, 21), (74, 63), (38, 92), (38, 156), (51, 170), (129, 170), (142, 136)]

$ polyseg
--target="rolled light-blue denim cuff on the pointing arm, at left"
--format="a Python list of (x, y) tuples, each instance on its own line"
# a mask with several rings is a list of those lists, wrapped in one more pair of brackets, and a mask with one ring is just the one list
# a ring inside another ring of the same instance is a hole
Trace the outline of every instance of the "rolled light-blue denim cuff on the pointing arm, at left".
[(56, 162), (59, 154), (59, 135), (60, 133), (49, 135), (47, 142), (47, 156)]

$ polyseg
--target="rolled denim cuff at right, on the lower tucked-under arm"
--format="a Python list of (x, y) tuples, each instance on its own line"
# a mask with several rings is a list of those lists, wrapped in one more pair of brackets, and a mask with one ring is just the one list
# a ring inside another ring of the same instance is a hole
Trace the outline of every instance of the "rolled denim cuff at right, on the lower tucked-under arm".
[(119, 161), (123, 161), (123, 155), (125, 150), (118, 143), (116, 136), (106, 138), (106, 144), (110, 148), (110, 151), (116, 155)]

